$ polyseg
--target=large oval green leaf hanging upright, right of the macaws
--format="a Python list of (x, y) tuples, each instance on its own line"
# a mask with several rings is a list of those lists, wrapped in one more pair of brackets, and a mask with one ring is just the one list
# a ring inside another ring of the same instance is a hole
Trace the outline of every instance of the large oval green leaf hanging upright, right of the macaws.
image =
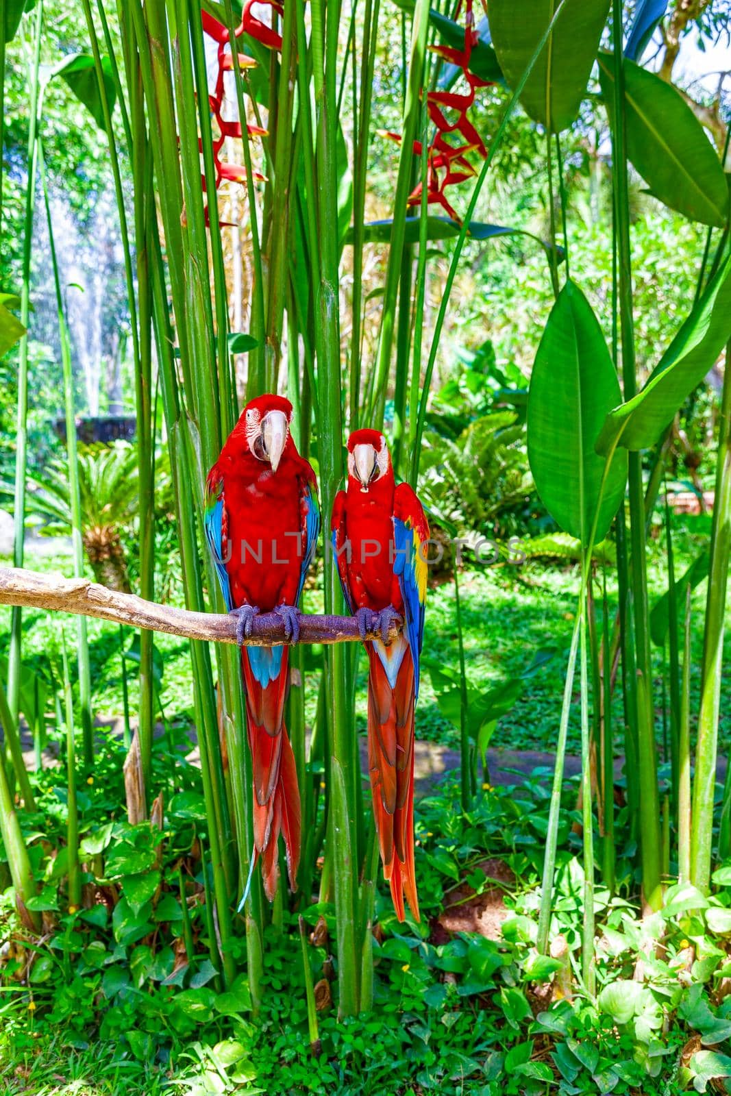
[(581, 289), (567, 282), (536, 354), (528, 391), (528, 460), (536, 488), (558, 525), (585, 546), (598, 505), (594, 539), (603, 540), (621, 501), (627, 455), (612, 461), (595, 452), (619, 381), (598, 321)]

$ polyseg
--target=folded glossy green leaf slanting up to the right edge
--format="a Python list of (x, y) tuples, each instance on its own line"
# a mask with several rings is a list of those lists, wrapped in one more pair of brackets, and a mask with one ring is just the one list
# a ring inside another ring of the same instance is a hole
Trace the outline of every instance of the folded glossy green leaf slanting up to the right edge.
[(671, 424), (731, 339), (731, 255), (721, 265), (641, 391), (606, 418), (597, 453), (647, 449)]

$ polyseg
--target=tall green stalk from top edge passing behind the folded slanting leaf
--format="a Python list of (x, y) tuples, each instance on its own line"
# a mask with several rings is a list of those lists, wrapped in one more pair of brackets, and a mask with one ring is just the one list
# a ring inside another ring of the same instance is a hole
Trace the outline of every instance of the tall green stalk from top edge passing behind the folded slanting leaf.
[[(635, 330), (632, 320), (632, 272), (629, 240), (629, 194), (625, 138), (625, 70), (623, 57), (623, 3), (614, 0), (615, 124), (612, 129), (613, 179), (619, 271), (619, 316), (624, 398), (637, 389)], [(647, 543), (642, 465), (639, 453), (629, 454), (629, 513), (631, 544), (631, 590), (635, 614), (635, 659), (637, 670), (637, 735), (639, 761), (639, 812), (642, 857), (642, 892), (647, 907), (662, 905), (660, 799), (658, 760), (652, 710), (652, 660), (648, 626)]]

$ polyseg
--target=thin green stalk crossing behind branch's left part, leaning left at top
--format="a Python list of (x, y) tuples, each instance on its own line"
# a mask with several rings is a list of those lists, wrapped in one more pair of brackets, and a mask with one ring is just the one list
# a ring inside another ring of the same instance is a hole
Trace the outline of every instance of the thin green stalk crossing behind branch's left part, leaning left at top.
[[(69, 466), (69, 498), (71, 502), (71, 545), (73, 549), (73, 573), (77, 578), (83, 576), (83, 534), (81, 524), (81, 491), (79, 488), (79, 466), (77, 458), (76, 437), (76, 411), (73, 396), (73, 366), (71, 364), (71, 341), (69, 339), (68, 324), (66, 322), (66, 309), (64, 307), (64, 294), (61, 289), (60, 273), (58, 270), (58, 258), (56, 254), (56, 243), (54, 239), (54, 224), (50, 215), (50, 201), (48, 197), (48, 184), (46, 180), (46, 165), (43, 156), (43, 145), (41, 136), (37, 137), (38, 167), (41, 169), (41, 184), (43, 186), (43, 201), (46, 209), (46, 222), (48, 226), (48, 250), (50, 252), (50, 264), (54, 272), (54, 286), (56, 289), (56, 309), (58, 313), (58, 336), (61, 344), (61, 366), (64, 370), (64, 406), (66, 412), (66, 453)], [(87, 766), (94, 762), (94, 732), (91, 718), (91, 663), (89, 661), (89, 639), (87, 632), (87, 618), (77, 617), (77, 658), (79, 663), (79, 701), (81, 706), (81, 735), (83, 744), (83, 760)]]

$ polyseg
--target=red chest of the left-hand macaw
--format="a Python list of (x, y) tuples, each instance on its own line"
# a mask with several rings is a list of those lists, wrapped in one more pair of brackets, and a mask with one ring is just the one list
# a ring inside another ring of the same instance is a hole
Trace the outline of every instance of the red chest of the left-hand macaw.
[(294, 604), (305, 553), (299, 477), (282, 465), (253, 476), (235, 463), (222, 471), (233, 604), (258, 605), (262, 613)]

